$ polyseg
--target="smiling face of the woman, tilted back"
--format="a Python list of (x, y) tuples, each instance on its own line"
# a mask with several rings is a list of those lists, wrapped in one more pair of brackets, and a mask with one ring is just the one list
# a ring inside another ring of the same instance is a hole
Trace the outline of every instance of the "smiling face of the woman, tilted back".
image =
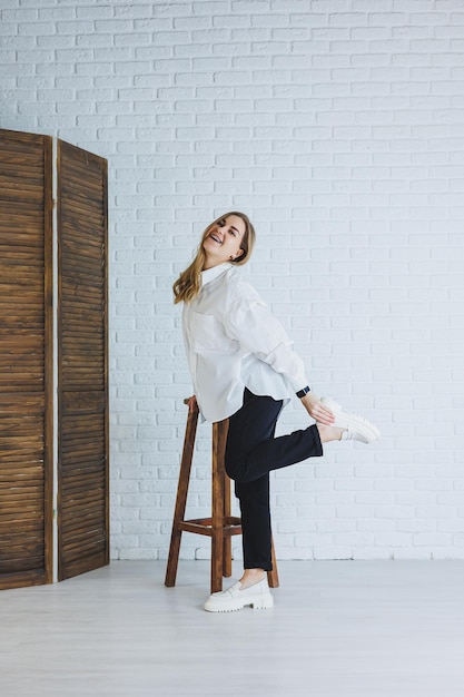
[(229, 215), (213, 223), (205, 233), (203, 248), (206, 254), (204, 268), (231, 262), (243, 255), (240, 247), (245, 223), (238, 215)]

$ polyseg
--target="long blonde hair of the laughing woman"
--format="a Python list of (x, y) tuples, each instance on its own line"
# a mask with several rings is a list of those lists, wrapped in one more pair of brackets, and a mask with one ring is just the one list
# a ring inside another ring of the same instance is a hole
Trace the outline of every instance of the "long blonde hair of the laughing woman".
[(180, 276), (174, 284), (172, 291), (174, 291), (175, 303), (181, 303), (181, 302), (188, 303), (189, 301), (192, 301), (200, 292), (201, 271), (205, 266), (205, 261), (206, 261), (205, 251), (203, 248), (203, 242), (205, 237), (209, 234), (209, 230), (215, 225), (220, 223), (220, 220), (228, 218), (229, 215), (236, 215), (237, 217), (241, 218), (241, 220), (245, 223), (245, 234), (240, 242), (240, 248), (243, 249), (244, 253), (237, 259), (233, 259), (230, 263), (237, 266), (240, 266), (241, 264), (246, 264), (246, 262), (249, 259), (251, 252), (253, 252), (253, 247), (255, 245), (256, 234), (255, 234), (255, 228), (249, 222), (248, 216), (246, 216), (244, 213), (237, 213), (236, 210), (231, 210), (230, 213), (226, 213), (225, 215), (219, 216), (205, 229), (204, 234), (201, 235), (201, 242), (198, 246), (195, 259), (191, 262), (190, 266), (188, 266), (188, 268), (186, 268), (180, 274)]

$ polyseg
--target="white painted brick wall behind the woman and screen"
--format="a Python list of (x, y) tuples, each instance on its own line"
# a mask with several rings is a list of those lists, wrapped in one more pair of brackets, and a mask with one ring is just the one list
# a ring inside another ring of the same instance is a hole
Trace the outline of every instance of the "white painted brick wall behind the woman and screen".
[[(314, 389), (384, 434), (273, 475), (278, 557), (464, 558), (461, 0), (1, 0), (0, 95), (3, 128), (109, 159), (115, 558), (167, 554), (190, 393), (170, 286), (229, 208)], [(305, 423), (295, 403), (280, 431)], [(201, 426), (191, 517), (208, 449)]]

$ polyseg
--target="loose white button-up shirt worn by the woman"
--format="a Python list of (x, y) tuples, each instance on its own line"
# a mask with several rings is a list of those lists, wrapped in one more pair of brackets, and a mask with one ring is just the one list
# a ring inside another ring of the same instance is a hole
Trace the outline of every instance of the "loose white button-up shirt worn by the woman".
[(200, 293), (184, 303), (182, 332), (203, 418), (227, 419), (244, 389), (288, 400), (308, 383), (280, 322), (231, 264), (203, 272)]

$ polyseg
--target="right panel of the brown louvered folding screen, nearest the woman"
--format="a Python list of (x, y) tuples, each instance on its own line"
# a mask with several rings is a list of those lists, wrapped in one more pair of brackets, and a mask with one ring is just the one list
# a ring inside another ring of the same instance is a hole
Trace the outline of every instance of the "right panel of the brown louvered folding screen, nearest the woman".
[(58, 144), (59, 580), (108, 563), (107, 161)]

